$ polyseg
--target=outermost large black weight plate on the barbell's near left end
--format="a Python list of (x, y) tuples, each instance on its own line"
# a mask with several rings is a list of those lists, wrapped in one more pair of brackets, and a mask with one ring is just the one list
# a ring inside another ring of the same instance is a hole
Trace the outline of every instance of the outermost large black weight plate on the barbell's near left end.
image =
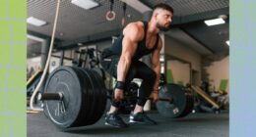
[(47, 79), (45, 93), (58, 93), (64, 95), (63, 103), (65, 113), (61, 113), (61, 103), (58, 101), (45, 101), (44, 111), (50, 120), (60, 128), (74, 126), (83, 107), (83, 87), (81, 79), (74, 68), (60, 67), (54, 69)]

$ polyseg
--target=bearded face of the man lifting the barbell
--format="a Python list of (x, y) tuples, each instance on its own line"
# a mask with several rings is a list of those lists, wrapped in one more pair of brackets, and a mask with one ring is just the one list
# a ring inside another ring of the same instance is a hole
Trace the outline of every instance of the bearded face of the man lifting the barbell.
[(157, 15), (157, 26), (160, 30), (167, 30), (172, 22), (171, 19), (172, 14), (169, 11), (160, 9)]

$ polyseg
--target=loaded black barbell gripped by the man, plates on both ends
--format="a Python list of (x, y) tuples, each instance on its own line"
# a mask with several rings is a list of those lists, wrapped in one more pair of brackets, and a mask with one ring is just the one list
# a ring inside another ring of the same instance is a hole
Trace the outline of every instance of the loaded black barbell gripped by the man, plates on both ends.
[[(44, 92), (37, 99), (43, 102), (44, 114), (57, 127), (66, 130), (96, 123), (110, 98), (106, 93), (104, 81), (96, 70), (59, 67), (50, 73)], [(193, 109), (192, 93), (179, 85), (163, 85), (159, 94), (156, 106), (163, 116), (182, 117)]]

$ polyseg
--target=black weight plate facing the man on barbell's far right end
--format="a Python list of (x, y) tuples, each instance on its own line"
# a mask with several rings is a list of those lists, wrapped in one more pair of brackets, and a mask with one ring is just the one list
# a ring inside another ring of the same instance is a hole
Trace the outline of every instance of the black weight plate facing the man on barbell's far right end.
[(189, 114), (191, 106), (191, 99), (183, 90), (180, 85), (177, 84), (165, 84), (160, 88), (160, 98), (172, 98), (173, 103), (157, 102), (157, 109), (160, 114), (166, 117), (181, 117)]

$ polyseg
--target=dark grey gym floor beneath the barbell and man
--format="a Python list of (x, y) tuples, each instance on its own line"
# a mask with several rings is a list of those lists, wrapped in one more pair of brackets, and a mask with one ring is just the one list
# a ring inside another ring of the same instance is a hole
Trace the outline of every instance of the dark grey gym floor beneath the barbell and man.
[[(60, 131), (43, 113), (28, 114), (28, 137), (228, 137), (229, 114), (189, 114), (180, 119), (162, 117), (157, 111), (148, 115), (158, 125), (132, 124), (128, 128), (114, 128), (104, 125), (101, 117), (94, 125), (76, 127), (68, 132)], [(129, 115), (122, 115), (128, 121)]]

